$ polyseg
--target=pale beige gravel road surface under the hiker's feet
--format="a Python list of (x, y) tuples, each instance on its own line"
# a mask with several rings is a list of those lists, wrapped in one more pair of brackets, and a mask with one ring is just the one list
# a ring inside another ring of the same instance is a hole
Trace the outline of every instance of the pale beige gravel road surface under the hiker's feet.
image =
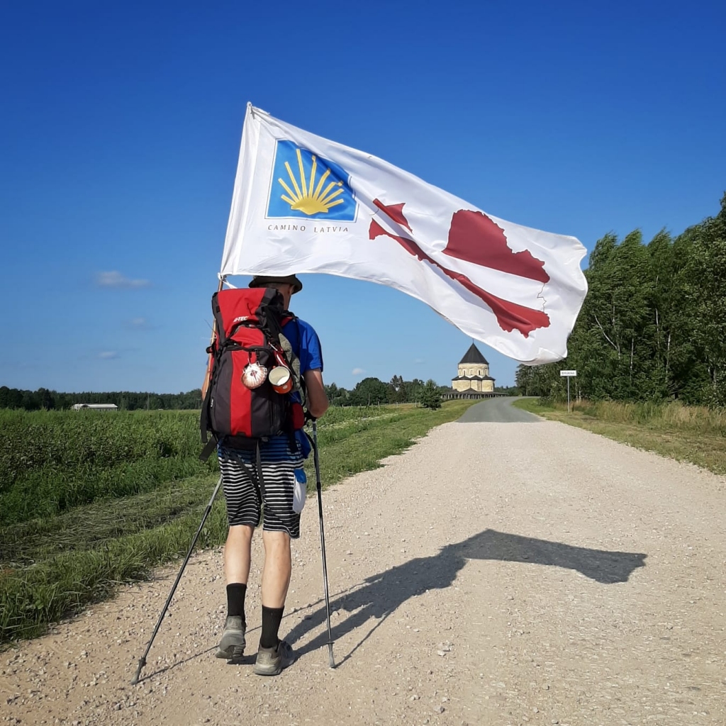
[[(0, 722), (158, 725), (726, 724), (725, 480), (558, 423), (452, 423), (317, 502), (281, 634), (298, 661), (213, 657), (219, 551), (0, 656)], [(256, 578), (256, 580), (253, 580)]]

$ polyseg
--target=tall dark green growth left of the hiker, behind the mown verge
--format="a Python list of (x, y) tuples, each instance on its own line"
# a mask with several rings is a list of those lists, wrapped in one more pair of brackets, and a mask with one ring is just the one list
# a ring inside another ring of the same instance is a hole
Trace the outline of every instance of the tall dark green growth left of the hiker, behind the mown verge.
[(209, 473), (198, 412), (0, 411), (0, 524)]

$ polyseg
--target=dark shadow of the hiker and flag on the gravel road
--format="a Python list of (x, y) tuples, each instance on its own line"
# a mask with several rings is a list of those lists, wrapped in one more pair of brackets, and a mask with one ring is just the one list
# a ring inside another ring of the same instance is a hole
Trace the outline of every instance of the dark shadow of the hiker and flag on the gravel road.
[[(457, 572), (467, 560), (505, 560), (538, 565), (551, 565), (581, 572), (603, 584), (627, 582), (635, 569), (645, 567), (648, 555), (637, 552), (610, 552), (590, 550), (587, 547), (573, 547), (561, 542), (548, 542), (546, 539), (521, 537), (517, 534), (485, 529), (479, 534), (456, 544), (446, 544), (437, 555), (416, 558), (368, 577), (361, 587), (351, 588), (330, 602), (330, 611), (351, 613), (336, 622), (332, 628), (333, 640), (357, 627), (368, 619), (379, 619), (362, 640), (357, 643), (344, 662), (372, 635), (373, 631), (396, 608), (410, 597), (422, 595), (427, 590), (440, 590), (454, 582)], [(295, 625), (285, 640), (293, 644), (326, 623), (325, 604)], [(328, 643), (327, 628), (301, 648), (298, 655), (317, 650)]]

